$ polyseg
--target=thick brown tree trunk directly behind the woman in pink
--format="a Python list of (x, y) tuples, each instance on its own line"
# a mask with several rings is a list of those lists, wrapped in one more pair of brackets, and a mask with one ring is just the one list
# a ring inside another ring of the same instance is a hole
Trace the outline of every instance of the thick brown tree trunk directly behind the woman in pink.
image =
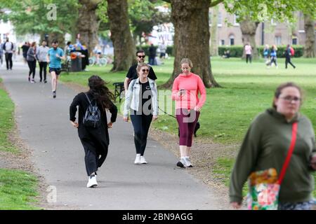
[(173, 38), (173, 73), (164, 83), (171, 87), (180, 73), (180, 61), (184, 57), (193, 62), (192, 72), (201, 76), (205, 87), (219, 87), (211, 73), (209, 55), (209, 0), (171, 0), (171, 20), (175, 27)]

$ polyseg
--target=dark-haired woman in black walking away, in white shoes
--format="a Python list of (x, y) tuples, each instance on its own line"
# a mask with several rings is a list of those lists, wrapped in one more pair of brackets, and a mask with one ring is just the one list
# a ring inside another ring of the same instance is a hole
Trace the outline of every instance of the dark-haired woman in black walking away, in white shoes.
[[(84, 146), (84, 161), (88, 175), (87, 188), (98, 186), (96, 172), (105, 162), (110, 144), (108, 129), (117, 120), (117, 106), (112, 102), (114, 95), (105, 84), (105, 81), (99, 76), (91, 76), (88, 79), (88, 92), (77, 94), (70, 105), (70, 123), (74, 128), (78, 129), (79, 139), (82, 146)], [(96, 101), (100, 110), (101, 120), (99, 127), (87, 127), (83, 123), (84, 115), (90, 105), (89, 101)], [(77, 106), (79, 106), (78, 122), (76, 122)], [(109, 123), (107, 123), (107, 110), (111, 113)]]

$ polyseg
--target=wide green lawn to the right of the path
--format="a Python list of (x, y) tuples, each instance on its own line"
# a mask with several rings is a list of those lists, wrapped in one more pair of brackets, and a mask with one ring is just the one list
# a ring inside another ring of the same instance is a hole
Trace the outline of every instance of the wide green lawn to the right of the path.
[[(221, 88), (207, 90), (206, 104), (202, 109), (199, 121), (201, 128), (198, 137), (220, 144), (240, 144), (251, 120), (272, 105), (274, 90), (280, 83), (293, 81), (304, 90), (304, 101), (301, 112), (314, 125), (316, 130), (316, 59), (294, 58), (296, 69), (289, 66), (285, 69), (284, 59), (278, 59), (278, 69), (267, 69), (263, 59), (252, 64), (239, 58), (211, 59), (212, 72)], [(110, 73), (111, 66), (88, 67), (90, 71), (62, 75), (61, 80), (87, 85), (92, 74), (98, 74), (112, 83), (122, 82), (126, 72)], [(173, 71), (173, 59), (165, 60), (162, 66), (153, 66), (157, 74), (157, 85), (166, 82)], [(153, 123), (157, 129), (177, 133), (178, 125), (174, 118), (161, 113), (159, 120)], [(213, 167), (213, 174), (223, 183), (228, 184), (234, 158), (218, 158)], [(314, 192), (316, 196), (316, 191)]]

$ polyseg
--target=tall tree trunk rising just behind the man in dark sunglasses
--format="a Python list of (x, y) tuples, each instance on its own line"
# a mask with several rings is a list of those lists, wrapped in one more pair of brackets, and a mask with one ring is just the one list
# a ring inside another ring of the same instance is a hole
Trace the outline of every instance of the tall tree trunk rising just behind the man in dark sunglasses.
[(129, 27), (127, 0), (107, 0), (111, 40), (114, 45), (114, 65), (111, 71), (126, 71), (135, 58), (135, 44)]

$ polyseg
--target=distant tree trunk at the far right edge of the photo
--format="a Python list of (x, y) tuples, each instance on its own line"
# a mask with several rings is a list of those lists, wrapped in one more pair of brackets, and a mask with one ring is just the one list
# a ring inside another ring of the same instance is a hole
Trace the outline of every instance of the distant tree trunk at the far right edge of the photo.
[(305, 46), (304, 57), (315, 57), (315, 21), (310, 15), (304, 15), (304, 29), (305, 29)]

